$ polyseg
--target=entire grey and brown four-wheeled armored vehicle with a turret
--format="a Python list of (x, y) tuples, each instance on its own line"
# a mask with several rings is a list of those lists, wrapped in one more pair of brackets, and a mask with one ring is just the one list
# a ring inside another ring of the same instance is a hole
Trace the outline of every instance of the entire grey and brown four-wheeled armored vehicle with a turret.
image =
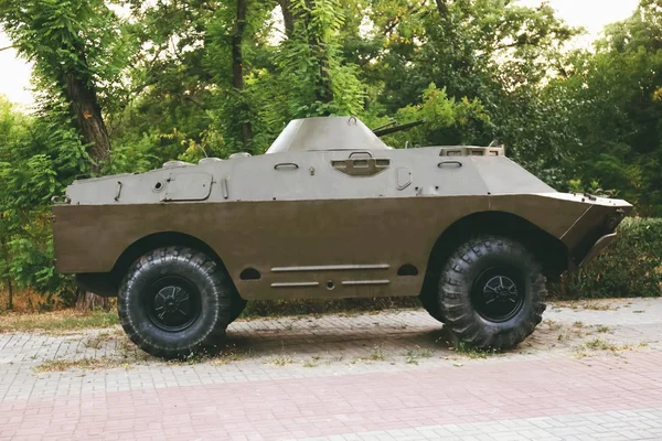
[(517, 345), (545, 280), (616, 237), (624, 201), (555, 191), (502, 147), (393, 149), (356, 118), (291, 121), (266, 154), (78, 180), (57, 270), (118, 297), (142, 349), (218, 343), (246, 301), (419, 295), (460, 341)]

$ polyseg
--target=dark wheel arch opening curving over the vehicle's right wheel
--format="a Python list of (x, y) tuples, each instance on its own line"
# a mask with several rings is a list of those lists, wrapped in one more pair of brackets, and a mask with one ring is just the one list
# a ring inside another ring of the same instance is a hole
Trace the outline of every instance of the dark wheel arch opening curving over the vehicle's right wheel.
[(428, 258), (421, 292), (436, 290), (442, 266), (460, 245), (484, 234), (522, 243), (536, 257), (548, 279), (556, 279), (568, 269), (567, 247), (557, 237), (512, 213), (479, 212), (456, 220), (439, 235)]

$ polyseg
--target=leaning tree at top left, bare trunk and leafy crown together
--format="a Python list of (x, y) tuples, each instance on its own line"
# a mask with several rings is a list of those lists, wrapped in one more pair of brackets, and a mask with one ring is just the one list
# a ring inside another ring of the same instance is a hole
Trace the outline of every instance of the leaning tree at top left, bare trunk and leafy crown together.
[(117, 72), (115, 15), (103, 0), (1, 0), (0, 23), (19, 53), (34, 62), (42, 104), (61, 98), (68, 105), (98, 171), (110, 152), (99, 83)]

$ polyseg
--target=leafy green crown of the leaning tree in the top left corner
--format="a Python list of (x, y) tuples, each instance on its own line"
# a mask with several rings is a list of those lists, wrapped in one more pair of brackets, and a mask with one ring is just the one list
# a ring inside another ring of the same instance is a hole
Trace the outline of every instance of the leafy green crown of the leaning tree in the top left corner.
[(93, 83), (107, 109), (125, 96), (119, 74), (136, 45), (103, 0), (0, 0), (0, 24), (34, 63), (44, 103), (63, 96), (66, 74)]

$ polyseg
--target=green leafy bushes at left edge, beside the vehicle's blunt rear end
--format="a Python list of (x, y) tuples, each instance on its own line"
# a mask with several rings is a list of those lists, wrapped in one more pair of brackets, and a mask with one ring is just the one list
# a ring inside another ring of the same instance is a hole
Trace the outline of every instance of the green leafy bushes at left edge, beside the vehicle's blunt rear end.
[(47, 298), (71, 299), (71, 279), (55, 272), (51, 197), (87, 170), (75, 131), (52, 112), (26, 118), (0, 98), (0, 280)]

